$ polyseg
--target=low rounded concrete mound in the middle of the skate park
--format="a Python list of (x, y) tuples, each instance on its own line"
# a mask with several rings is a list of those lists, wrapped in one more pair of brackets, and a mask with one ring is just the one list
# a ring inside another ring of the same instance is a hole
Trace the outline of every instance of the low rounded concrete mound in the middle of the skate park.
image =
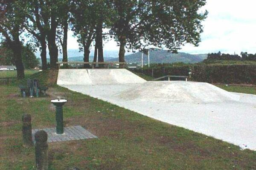
[(145, 82), (116, 95), (120, 99), (175, 103), (239, 101), (239, 95), (204, 82)]

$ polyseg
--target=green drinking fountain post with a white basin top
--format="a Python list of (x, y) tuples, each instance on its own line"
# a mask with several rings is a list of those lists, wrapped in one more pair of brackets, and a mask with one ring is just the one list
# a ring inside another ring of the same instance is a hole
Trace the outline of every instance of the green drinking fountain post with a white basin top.
[(56, 107), (56, 133), (63, 134), (63, 110), (62, 106), (67, 102), (66, 99), (51, 100), (52, 104)]

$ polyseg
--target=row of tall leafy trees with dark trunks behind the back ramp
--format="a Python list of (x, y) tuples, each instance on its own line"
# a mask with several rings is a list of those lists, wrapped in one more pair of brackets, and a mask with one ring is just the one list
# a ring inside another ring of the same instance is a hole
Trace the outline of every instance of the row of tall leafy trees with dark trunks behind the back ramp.
[(60, 47), (67, 62), (69, 28), (78, 38), (85, 62), (93, 43), (94, 61), (97, 55), (104, 61), (106, 37), (116, 40), (119, 62), (125, 62), (125, 48), (145, 51), (155, 46), (177, 52), (185, 43), (197, 46), (201, 22), (207, 17), (207, 11), (199, 10), (205, 4), (206, 0), (0, 0), (0, 33), (13, 51), (18, 76), (24, 77), (21, 39), (25, 29), (41, 51), (43, 69), (47, 69), (47, 46), (51, 68), (57, 68)]

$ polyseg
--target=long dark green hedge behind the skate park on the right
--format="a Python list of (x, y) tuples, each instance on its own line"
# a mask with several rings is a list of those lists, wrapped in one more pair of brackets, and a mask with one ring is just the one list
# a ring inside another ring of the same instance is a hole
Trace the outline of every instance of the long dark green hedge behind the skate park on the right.
[[(165, 75), (189, 76), (191, 81), (256, 85), (256, 65), (186, 65), (171, 68), (135, 69), (154, 78)], [(189, 75), (189, 72), (191, 74)]]

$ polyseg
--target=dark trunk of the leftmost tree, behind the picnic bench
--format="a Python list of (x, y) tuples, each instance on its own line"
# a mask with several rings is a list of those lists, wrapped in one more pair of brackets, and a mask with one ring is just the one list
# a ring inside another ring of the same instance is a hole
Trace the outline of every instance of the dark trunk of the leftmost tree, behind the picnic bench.
[(12, 51), (14, 55), (14, 61), (17, 69), (18, 79), (23, 79), (25, 77), (24, 66), (21, 58), (21, 48), (22, 48), (22, 43), (20, 42), (20, 39), (19, 39), (19, 33), (17, 33), (17, 35), (15, 35), (14, 37), (14, 43), (12, 44)]

